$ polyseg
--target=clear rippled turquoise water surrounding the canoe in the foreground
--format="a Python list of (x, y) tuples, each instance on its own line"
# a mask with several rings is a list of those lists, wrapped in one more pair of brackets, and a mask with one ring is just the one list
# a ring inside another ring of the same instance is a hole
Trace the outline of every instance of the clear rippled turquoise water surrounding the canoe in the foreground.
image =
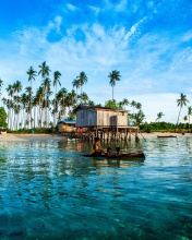
[(192, 137), (121, 144), (144, 160), (83, 157), (88, 148), (0, 143), (1, 240), (192, 239)]

